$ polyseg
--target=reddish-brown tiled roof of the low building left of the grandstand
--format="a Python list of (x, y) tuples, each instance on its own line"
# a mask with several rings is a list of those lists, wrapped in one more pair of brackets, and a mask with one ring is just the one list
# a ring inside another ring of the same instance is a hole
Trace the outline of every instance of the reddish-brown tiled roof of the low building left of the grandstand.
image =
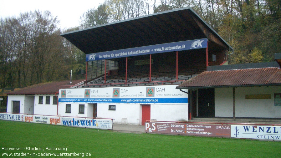
[(32, 86), (24, 87), (7, 94), (55, 94), (61, 88), (69, 88), (71, 85), (79, 84), (83, 81), (84, 79), (73, 80), (71, 84), (69, 81), (34, 84)]

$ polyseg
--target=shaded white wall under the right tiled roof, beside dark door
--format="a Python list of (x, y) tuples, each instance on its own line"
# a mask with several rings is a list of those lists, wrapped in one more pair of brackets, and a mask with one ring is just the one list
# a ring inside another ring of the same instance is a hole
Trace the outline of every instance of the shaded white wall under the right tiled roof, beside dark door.
[[(235, 116), (281, 118), (281, 107), (274, 106), (274, 93), (281, 93), (281, 86), (235, 88)], [(270, 99), (245, 99), (246, 95), (270, 94)], [(232, 88), (215, 89), (215, 116), (233, 117)]]

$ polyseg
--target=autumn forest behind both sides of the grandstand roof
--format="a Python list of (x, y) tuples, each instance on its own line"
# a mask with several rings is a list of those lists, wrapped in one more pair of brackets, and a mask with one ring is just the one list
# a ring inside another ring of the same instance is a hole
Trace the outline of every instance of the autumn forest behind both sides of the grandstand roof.
[(49, 11), (0, 19), (0, 88), (84, 79), (85, 54), (61, 33), (190, 7), (234, 49), (229, 64), (273, 61), (281, 52), (280, 0), (106, 0), (86, 10), (80, 26), (61, 29)]

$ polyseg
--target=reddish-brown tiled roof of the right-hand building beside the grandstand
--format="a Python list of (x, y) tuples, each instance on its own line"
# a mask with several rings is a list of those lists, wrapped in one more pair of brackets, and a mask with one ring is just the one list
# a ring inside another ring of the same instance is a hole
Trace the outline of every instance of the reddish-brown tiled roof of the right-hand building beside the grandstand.
[(279, 67), (206, 71), (176, 89), (281, 85)]

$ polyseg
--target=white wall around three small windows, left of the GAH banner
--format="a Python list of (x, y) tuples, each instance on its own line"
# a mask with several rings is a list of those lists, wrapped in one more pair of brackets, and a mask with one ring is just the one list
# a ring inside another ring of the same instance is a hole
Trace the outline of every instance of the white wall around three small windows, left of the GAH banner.
[[(43, 96), (43, 104), (39, 104), (39, 96)], [(46, 96), (50, 96), (50, 104), (46, 104)], [(53, 104), (54, 95), (34, 95), (35, 115), (57, 115), (57, 104)]]

